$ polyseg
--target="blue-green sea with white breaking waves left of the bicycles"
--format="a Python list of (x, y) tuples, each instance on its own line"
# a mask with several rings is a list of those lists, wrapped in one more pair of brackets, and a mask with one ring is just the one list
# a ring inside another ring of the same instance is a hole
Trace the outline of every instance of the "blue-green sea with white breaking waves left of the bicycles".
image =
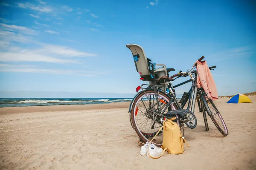
[(131, 102), (132, 98), (0, 98), (0, 108)]

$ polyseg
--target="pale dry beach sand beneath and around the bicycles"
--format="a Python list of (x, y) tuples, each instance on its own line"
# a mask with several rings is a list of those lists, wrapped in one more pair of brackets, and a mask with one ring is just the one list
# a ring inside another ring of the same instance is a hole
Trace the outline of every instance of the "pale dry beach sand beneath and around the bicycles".
[(256, 169), (254, 103), (215, 101), (229, 130), (224, 137), (198, 109), (198, 125), (186, 128), (190, 147), (160, 159), (140, 156), (129, 121), (129, 103), (0, 108), (0, 169), (40, 170), (250, 170)]

